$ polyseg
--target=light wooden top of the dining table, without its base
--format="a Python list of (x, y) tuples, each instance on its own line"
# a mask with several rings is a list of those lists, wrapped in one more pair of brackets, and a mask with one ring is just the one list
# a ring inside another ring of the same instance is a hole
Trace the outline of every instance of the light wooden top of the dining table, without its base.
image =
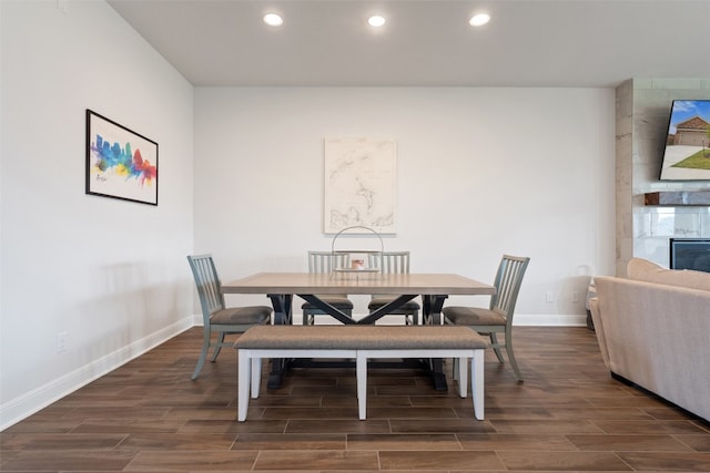
[(455, 274), (257, 273), (222, 285), (223, 294), (494, 295), (494, 286)]

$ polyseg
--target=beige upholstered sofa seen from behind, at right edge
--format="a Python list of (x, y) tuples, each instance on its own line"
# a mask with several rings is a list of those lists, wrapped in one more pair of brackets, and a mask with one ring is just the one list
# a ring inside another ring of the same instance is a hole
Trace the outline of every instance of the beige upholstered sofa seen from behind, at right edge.
[(710, 421), (710, 273), (632, 258), (628, 277), (595, 277), (590, 300), (607, 368)]

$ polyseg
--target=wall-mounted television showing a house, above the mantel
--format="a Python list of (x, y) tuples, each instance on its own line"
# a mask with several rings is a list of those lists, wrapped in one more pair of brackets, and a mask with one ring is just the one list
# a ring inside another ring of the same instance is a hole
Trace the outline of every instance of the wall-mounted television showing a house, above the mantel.
[(710, 181), (710, 100), (674, 100), (661, 181)]

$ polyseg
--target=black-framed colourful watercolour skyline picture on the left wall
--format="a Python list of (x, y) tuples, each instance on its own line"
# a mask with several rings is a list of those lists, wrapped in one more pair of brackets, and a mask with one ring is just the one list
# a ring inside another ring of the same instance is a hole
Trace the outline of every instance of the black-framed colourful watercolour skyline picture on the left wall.
[(87, 194), (158, 205), (158, 143), (87, 110)]

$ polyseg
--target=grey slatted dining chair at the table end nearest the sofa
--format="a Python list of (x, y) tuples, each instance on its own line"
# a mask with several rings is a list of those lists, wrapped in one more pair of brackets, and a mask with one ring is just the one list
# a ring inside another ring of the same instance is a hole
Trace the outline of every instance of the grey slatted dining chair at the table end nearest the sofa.
[[(513, 353), (513, 315), (523, 284), (523, 276), (530, 263), (528, 257), (503, 255), (494, 286), (496, 294), (486, 308), (449, 306), (442, 309), (444, 321), (456, 326), (468, 326), (480, 335), (490, 337), (490, 346), (501, 363), (501, 348), (506, 349), (510, 366), (519, 382), (523, 381), (520, 369)], [(498, 333), (504, 333), (505, 341), (498, 341)]]

